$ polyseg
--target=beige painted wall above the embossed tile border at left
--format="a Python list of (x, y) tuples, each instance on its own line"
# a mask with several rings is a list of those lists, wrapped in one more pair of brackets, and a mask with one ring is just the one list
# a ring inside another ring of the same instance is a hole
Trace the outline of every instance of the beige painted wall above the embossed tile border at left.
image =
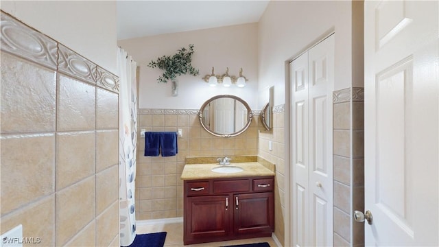
[(117, 73), (116, 1), (1, 1), (0, 8)]

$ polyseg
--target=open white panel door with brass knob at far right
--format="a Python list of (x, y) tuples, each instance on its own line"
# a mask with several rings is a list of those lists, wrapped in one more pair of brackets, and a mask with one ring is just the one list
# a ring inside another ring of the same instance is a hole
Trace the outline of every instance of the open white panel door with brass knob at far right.
[(438, 11), (365, 3), (366, 246), (439, 246)]

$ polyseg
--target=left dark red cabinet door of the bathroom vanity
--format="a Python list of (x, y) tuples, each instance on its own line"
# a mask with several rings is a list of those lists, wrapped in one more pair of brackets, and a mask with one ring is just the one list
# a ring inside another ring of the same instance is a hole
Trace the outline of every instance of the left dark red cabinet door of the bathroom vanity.
[[(233, 234), (233, 202), (230, 196), (186, 198), (185, 244)], [(209, 242), (209, 241), (208, 241)]]

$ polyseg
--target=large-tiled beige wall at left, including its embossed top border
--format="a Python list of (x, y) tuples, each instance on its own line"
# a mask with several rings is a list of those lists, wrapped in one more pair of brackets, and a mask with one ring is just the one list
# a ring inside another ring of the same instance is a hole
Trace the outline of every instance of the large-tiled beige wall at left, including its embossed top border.
[(119, 246), (117, 78), (3, 12), (1, 25), (1, 234)]

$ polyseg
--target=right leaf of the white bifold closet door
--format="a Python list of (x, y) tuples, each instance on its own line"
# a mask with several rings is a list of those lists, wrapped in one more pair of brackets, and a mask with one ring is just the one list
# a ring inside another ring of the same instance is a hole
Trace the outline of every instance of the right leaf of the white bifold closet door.
[(311, 246), (333, 245), (332, 94), (334, 36), (308, 51)]

